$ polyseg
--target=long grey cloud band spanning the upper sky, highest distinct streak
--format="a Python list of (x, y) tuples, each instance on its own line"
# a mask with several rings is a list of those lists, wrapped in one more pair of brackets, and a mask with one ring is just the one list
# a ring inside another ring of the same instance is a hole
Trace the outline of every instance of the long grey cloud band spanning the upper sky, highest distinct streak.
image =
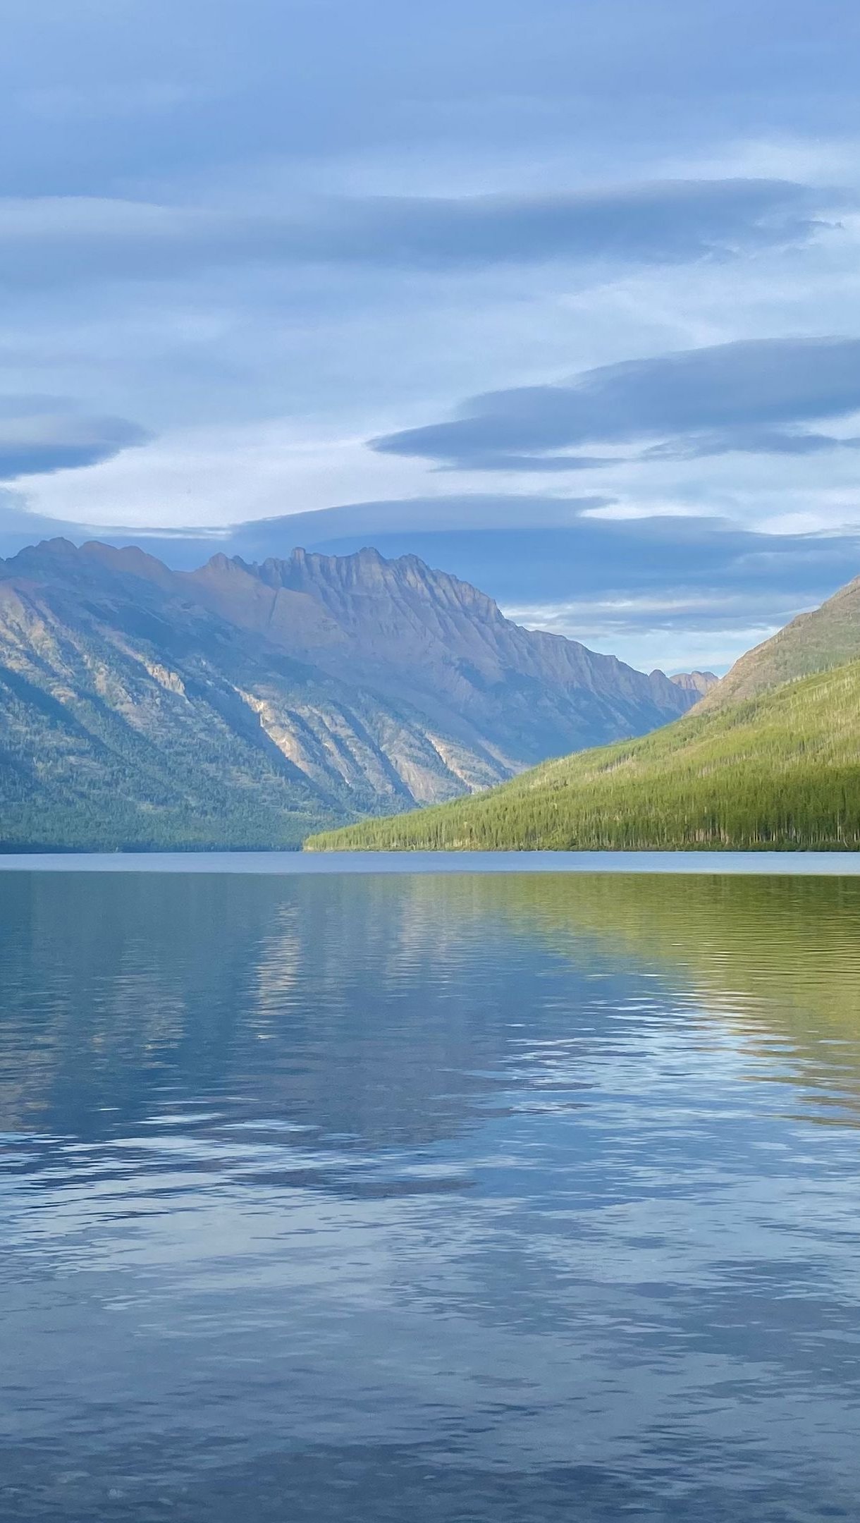
[(107, 196), (0, 201), (0, 276), (20, 286), (164, 279), (236, 263), (469, 270), (679, 263), (805, 242), (842, 192), (788, 180), (667, 180), (545, 195), (339, 196), (215, 210)]

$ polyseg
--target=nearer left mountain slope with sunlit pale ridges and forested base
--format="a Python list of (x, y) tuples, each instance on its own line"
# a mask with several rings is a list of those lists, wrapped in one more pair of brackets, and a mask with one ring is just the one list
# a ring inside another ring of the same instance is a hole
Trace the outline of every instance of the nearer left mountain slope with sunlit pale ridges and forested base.
[[(0, 844), (297, 847), (501, 771), (192, 603), (53, 545), (0, 579)], [(132, 570), (129, 570), (129, 567)]]

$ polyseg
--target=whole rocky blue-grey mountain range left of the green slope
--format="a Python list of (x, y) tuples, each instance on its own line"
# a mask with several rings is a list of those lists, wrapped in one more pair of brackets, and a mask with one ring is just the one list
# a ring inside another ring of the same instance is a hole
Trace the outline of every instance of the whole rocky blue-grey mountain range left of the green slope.
[(714, 681), (504, 618), (416, 556), (0, 562), (0, 844), (297, 847), (642, 734)]

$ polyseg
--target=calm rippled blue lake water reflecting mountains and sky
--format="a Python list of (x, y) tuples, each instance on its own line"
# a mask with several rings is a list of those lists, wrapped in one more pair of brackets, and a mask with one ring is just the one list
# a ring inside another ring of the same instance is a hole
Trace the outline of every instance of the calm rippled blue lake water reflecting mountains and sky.
[(860, 1518), (860, 879), (24, 870), (0, 938), (3, 1523)]

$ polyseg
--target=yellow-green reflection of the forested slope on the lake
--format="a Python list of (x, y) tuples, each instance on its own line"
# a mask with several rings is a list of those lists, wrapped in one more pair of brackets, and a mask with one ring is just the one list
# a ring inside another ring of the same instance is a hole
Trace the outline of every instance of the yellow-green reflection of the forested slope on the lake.
[(860, 880), (682, 874), (472, 879), (463, 912), (508, 917), (581, 964), (627, 956), (744, 1039), (787, 1040), (793, 1081), (860, 1098)]

